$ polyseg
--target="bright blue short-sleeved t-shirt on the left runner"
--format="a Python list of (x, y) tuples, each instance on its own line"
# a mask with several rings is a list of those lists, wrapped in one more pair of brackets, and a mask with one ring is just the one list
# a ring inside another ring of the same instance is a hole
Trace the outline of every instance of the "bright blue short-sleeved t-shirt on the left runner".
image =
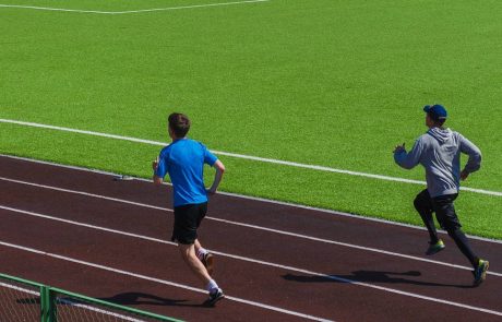
[(175, 206), (207, 202), (204, 164), (213, 166), (218, 158), (204, 144), (180, 139), (160, 151), (155, 175), (169, 174), (175, 192)]

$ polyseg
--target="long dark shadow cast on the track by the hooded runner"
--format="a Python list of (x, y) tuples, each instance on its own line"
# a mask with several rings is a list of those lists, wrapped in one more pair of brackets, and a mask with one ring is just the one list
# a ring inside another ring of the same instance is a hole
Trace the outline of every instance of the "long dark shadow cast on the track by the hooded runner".
[(286, 274), (283, 278), (286, 281), (294, 281), (300, 283), (383, 283), (383, 284), (411, 284), (422, 286), (441, 286), (441, 287), (457, 287), (457, 288), (473, 288), (473, 285), (453, 285), (453, 284), (441, 284), (432, 282), (422, 282), (416, 279), (405, 278), (404, 276), (418, 277), (421, 273), (418, 271), (408, 272), (381, 272), (381, 271), (355, 271), (352, 275), (294, 275)]

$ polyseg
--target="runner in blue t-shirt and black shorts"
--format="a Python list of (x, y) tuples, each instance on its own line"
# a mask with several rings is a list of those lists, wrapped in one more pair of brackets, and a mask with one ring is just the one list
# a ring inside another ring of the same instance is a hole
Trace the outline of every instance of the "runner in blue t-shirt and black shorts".
[[(157, 159), (153, 162), (153, 181), (162, 184), (164, 177), (169, 174), (175, 196), (175, 225), (171, 240), (178, 242), (184, 262), (210, 293), (206, 303), (214, 305), (225, 296), (216, 282), (211, 278), (213, 254), (199, 242), (196, 229), (207, 212), (207, 194), (216, 193), (225, 166), (204, 144), (187, 138), (190, 120), (186, 115), (171, 114), (168, 123), (172, 143), (164, 147)], [(204, 164), (216, 169), (210, 189), (204, 187)]]

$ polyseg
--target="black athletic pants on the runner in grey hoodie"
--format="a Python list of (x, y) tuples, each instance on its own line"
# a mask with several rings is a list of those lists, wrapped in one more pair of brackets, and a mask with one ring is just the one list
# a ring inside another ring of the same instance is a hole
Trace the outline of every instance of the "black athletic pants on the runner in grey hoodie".
[(455, 213), (455, 206), (453, 205), (457, 196), (458, 193), (431, 198), (429, 191), (426, 189), (415, 198), (414, 204), (423, 224), (426, 224), (431, 243), (435, 243), (439, 240), (434, 219), (432, 217), (432, 213), (435, 213), (435, 217), (441, 227), (446, 230), (447, 235), (455, 241), (456, 246), (469, 260), (473, 267), (477, 267), (479, 258), (470, 249), (469, 241), (461, 229), (462, 225)]

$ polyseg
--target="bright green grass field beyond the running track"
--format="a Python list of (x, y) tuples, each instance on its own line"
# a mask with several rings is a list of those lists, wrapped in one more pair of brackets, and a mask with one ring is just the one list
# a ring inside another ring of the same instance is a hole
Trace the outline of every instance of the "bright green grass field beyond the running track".
[[(225, 0), (0, 0), (94, 11)], [(271, 0), (99, 14), (0, 5), (0, 118), (167, 142), (171, 111), (216, 151), (425, 180), (393, 160), (426, 104), (502, 191), (502, 2)], [(0, 122), (0, 153), (151, 177), (159, 147)], [(419, 184), (222, 156), (222, 190), (421, 224)], [(465, 162), (465, 158), (464, 158)], [(210, 174), (211, 175), (211, 171)], [(502, 239), (502, 196), (465, 191), (467, 232)]]

